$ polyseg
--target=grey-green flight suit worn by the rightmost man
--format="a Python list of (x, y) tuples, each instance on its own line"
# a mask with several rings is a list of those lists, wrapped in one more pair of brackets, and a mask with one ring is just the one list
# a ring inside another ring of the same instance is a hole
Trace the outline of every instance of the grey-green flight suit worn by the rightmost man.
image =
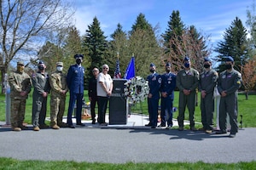
[(241, 87), (241, 73), (232, 69), (232, 71), (223, 71), (218, 78), (218, 92), (221, 94), (226, 91), (226, 96), (220, 98), (219, 104), (219, 127), (222, 132), (226, 132), (227, 113), (230, 116), (230, 134), (238, 132), (237, 123), (237, 91)]

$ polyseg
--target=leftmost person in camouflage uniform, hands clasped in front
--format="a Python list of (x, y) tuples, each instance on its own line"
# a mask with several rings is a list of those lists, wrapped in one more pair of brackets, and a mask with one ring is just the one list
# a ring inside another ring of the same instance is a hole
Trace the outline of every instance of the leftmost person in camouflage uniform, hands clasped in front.
[(11, 127), (14, 131), (27, 129), (23, 126), (26, 99), (32, 88), (31, 78), (24, 72), (24, 63), (17, 62), (17, 71), (9, 75), (11, 98)]

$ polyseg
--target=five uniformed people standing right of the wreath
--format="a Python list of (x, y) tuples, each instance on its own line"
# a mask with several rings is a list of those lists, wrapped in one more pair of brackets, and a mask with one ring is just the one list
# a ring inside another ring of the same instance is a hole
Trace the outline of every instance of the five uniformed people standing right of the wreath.
[[(238, 132), (237, 123), (237, 91), (241, 87), (241, 73), (236, 71), (232, 57), (225, 60), (226, 70), (218, 73), (212, 69), (212, 61), (209, 58), (204, 59), (204, 70), (199, 74), (191, 67), (189, 57), (183, 59), (183, 70), (178, 71), (177, 75), (171, 72), (171, 64), (166, 63), (166, 73), (160, 75), (156, 72), (153, 63), (149, 65), (151, 74), (147, 77), (149, 85), (148, 94), (148, 113), (149, 122), (145, 126), (156, 128), (158, 122), (158, 108), (160, 100), (161, 122), (158, 127), (172, 127), (172, 106), (174, 99), (174, 90), (179, 89), (178, 99), (178, 130), (183, 131), (184, 113), (186, 108), (189, 111), (190, 130), (195, 128), (195, 102), (197, 90), (201, 92), (201, 130), (206, 133), (213, 131), (213, 113), (214, 113), (214, 89), (218, 88), (221, 95), (219, 105), (219, 126), (220, 130), (216, 133), (227, 133), (226, 117), (230, 116), (230, 137), (234, 138)], [(167, 126), (166, 126), (167, 122)]]

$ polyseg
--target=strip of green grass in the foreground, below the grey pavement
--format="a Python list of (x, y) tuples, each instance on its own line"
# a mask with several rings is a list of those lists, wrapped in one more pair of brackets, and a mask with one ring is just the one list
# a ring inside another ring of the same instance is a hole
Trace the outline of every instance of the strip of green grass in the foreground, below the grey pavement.
[(190, 162), (177, 162), (177, 163), (133, 163), (127, 162), (125, 164), (111, 164), (111, 163), (88, 163), (76, 161), (17, 161), (10, 158), (0, 158), (0, 169), (61, 169), (61, 170), (76, 170), (76, 169), (102, 169), (102, 170), (166, 170), (166, 169), (196, 169), (196, 170), (212, 170), (212, 169), (255, 169), (256, 161), (238, 162), (238, 163), (204, 163), (201, 161)]

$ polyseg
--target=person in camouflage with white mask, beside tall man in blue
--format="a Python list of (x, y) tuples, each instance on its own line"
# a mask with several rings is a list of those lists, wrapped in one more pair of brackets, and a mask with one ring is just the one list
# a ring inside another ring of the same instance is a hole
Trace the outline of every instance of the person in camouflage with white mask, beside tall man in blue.
[(68, 127), (62, 122), (65, 111), (66, 94), (67, 94), (67, 75), (62, 72), (63, 63), (56, 63), (56, 71), (49, 76), (49, 84), (51, 87), (50, 94), (50, 127), (59, 129), (60, 127)]

